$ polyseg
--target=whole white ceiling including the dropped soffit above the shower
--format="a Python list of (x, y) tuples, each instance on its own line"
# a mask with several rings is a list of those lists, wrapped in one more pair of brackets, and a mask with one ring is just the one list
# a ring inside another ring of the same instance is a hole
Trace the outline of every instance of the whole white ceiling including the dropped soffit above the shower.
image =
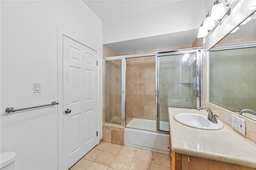
[[(213, 4), (212, 1), (214, 2), (211, 0), (210, 4)], [(83, 2), (102, 20), (102, 43), (118, 54), (192, 45), (205, 17), (204, 0), (83, 0)], [(180, 9), (181, 2), (186, 9)], [(188, 11), (191, 8), (190, 3), (195, 5), (192, 11)], [(201, 11), (196, 9), (198, 4), (200, 4), (198, 9)], [(189, 13), (186, 14), (186, 11)], [(156, 18), (152, 17), (152, 12)], [(150, 27), (153, 30), (147, 29), (150, 25), (148, 18), (141, 19), (141, 16), (152, 18), (150, 23), (152, 27)], [(195, 17), (191, 18), (192, 16)], [(134, 17), (138, 17), (138, 20), (134, 20)], [(185, 21), (187, 25), (179, 21), (179, 19), (184, 20), (185, 17), (188, 18)], [(162, 27), (159, 29), (154, 25), (159, 25), (158, 18), (162, 19)], [(129, 27), (132, 24), (134, 26)], [(189, 27), (188, 24), (192, 26)], [(144, 26), (146, 29), (143, 28)]]

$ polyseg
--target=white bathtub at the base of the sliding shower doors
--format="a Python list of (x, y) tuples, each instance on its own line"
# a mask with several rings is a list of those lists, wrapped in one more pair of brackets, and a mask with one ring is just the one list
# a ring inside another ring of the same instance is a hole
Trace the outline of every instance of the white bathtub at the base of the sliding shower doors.
[[(169, 130), (168, 122), (160, 124)], [(156, 121), (133, 118), (124, 128), (124, 145), (169, 154), (169, 135), (150, 131), (156, 131)]]

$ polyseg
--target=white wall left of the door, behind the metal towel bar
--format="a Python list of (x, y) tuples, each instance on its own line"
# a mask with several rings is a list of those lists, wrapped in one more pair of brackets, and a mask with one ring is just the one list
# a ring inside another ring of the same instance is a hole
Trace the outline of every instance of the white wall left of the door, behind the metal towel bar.
[[(1, 152), (16, 152), (16, 169), (57, 169), (57, 106), (5, 109), (57, 101), (57, 26), (100, 49), (101, 57), (101, 20), (77, 0), (0, 3)], [(41, 93), (33, 93), (33, 82)]]

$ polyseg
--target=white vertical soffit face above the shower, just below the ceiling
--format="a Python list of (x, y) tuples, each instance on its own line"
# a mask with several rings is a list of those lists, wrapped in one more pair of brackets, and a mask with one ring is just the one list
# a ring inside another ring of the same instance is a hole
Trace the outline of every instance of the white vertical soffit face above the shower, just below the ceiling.
[(103, 44), (197, 29), (205, 18), (204, 3), (203, 0), (171, 1), (143, 12), (104, 19)]

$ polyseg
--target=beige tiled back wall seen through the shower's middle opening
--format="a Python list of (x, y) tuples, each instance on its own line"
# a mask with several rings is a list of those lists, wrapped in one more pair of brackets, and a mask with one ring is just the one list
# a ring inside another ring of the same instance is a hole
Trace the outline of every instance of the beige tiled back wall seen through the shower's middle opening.
[(126, 59), (126, 116), (156, 119), (156, 58)]

